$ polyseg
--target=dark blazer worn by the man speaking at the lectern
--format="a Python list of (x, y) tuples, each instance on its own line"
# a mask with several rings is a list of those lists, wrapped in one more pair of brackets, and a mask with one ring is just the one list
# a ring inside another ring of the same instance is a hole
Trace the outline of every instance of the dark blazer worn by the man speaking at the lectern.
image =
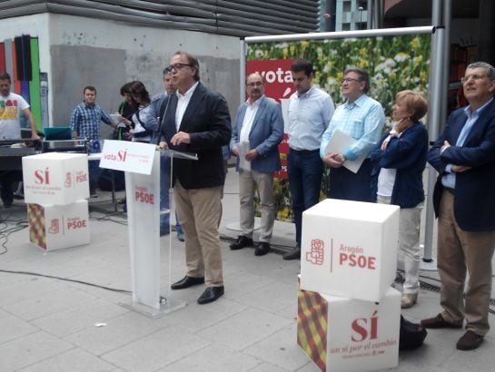
[(232, 131), (225, 99), (221, 94), (213, 93), (199, 83), (179, 127), (179, 132), (190, 134), (191, 143), (173, 146), (170, 140), (177, 132), (176, 109), (177, 96), (173, 94), (163, 101), (160, 110), (160, 117), (163, 118), (163, 139), (170, 149), (197, 153), (199, 160), (173, 159), (173, 180), (178, 179), (186, 190), (222, 186), (225, 181), (222, 146), (229, 143)]

